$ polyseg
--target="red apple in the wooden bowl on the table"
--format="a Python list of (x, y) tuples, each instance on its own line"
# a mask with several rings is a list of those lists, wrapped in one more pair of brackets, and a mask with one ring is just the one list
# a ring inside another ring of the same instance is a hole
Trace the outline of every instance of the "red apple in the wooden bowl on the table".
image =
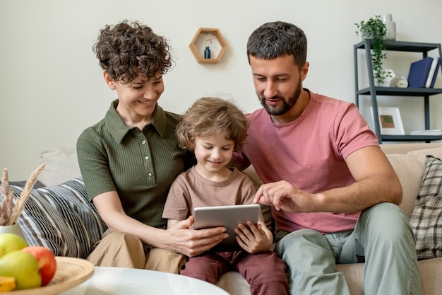
[(22, 251), (31, 253), (37, 259), (40, 275), (42, 276), (42, 286), (51, 282), (56, 271), (56, 260), (54, 253), (48, 248), (42, 246), (29, 246)]

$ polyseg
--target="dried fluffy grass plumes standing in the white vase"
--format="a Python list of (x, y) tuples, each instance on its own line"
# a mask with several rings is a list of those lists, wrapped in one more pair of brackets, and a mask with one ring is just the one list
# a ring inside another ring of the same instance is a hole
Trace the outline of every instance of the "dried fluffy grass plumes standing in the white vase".
[(25, 207), (26, 200), (32, 192), (32, 187), (34, 187), (35, 182), (37, 182), (38, 175), (42, 172), (45, 164), (46, 163), (42, 163), (31, 173), (15, 206), (13, 204), (13, 191), (8, 187), (8, 169), (4, 168), (3, 177), (1, 178), (1, 194), (3, 195), (3, 202), (1, 202), (0, 206), (0, 225), (11, 226), (16, 223)]

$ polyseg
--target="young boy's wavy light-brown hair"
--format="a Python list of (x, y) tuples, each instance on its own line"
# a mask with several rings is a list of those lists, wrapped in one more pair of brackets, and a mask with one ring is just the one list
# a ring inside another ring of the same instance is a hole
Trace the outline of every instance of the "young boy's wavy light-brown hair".
[(226, 132), (234, 151), (246, 144), (249, 119), (234, 103), (222, 98), (200, 98), (181, 117), (176, 134), (182, 149), (193, 151), (196, 137), (203, 139)]

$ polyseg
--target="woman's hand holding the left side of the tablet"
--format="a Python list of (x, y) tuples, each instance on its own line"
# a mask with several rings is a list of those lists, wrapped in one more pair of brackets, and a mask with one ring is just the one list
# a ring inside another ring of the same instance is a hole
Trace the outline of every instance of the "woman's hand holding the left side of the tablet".
[(225, 233), (225, 227), (195, 230), (191, 229), (192, 226), (193, 216), (190, 216), (188, 219), (179, 221), (176, 225), (167, 229), (165, 246), (162, 248), (168, 248), (193, 257), (213, 248), (229, 236)]

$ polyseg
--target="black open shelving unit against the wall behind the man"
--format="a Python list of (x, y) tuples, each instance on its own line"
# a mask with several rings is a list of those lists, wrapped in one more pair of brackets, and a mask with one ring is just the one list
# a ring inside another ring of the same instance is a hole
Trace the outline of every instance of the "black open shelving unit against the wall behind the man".
[[(431, 50), (438, 50), (439, 57), (442, 57), (440, 43), (421, 43), (421, 42), (401, 42), (393, 40), (384, 40), (386, 50), (400, 52), (422, 52), (422, 58), (428, 56)], [(374, 118), (378, 118), (378, 100), (377, 96), (419, 96), (424, 98), (425, 129), (430, 129), (430, 106), (429, 97), (442, 93), (442, 88), (398, 88), (398, 87), (380, 87), (375, 86), (373, 64), (371, 62), (371, 49), (374, 40), (368, 39), (354, 45), (354, 90), (356, 105), (359, 108), (359, 96), (370, 96), (371, 106), (373, 108)], [(358, 77), (358, 50), (365, 50), (366, 64), (369, 76), (369, 87), (359, 89)], [(441, 71), (442, 72), (442, 71)], [(382, 141), (434, 141), (442, 140), (442, 135), (386, 135), (381, 134), (381, 126), (378, 120), (374, 120), (374, 131), (381, 144)]]

